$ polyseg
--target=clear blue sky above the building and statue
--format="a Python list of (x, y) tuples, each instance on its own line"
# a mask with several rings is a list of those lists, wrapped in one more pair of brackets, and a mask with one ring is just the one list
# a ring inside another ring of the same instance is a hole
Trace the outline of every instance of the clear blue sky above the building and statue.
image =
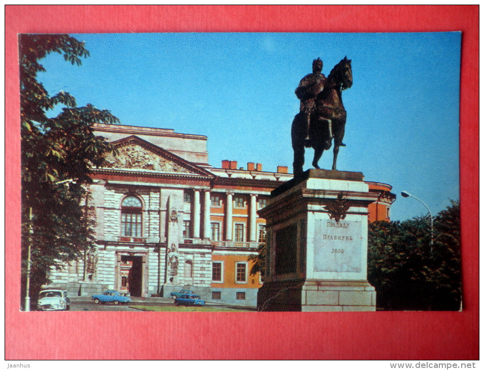
[[(224, 159), (292, 169), (294, 90), (314, 58), (329, 75), (344, 56), (353, 86), (338, 169), (389, 183), (392, 219), (433, 215), (459, 199), (459, 32), (73, 34), (90, 57), (42, 61), (49, 93), (110, 110), (121, 124), (208, 136), (209, 163)], [(307, 150), (304, 169), (313, 151)], [(330, 169), (332, 151), (319, 161)]]

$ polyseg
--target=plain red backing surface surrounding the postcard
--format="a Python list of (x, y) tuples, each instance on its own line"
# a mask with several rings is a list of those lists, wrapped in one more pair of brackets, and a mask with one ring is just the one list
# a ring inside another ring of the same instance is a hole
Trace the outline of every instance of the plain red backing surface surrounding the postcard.
[[(6, 359), (478, 359), (478, 6), (6, 6), (5, 19)], [(463, 31), (463, 312), (19, 312), (17, 33), (166, 31)]]

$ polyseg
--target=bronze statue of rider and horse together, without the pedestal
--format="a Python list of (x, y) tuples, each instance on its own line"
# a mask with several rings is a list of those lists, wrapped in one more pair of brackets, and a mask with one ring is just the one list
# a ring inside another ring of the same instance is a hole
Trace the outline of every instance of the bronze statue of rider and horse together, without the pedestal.
[(291, 128), (294, 176), (303, 172), (305, 147), (314, 149), (312, 165), (319, 168), (317, 163), (322, 152), (330, 149), (334, 138), (333, 171), (336, 171), (339, 147), (346, 146), (343, 144), (346, 110), (341, 92), (353, 84), (351, 60), (344, 57), (328, 78), (321, 73), (321, 59), (313, 60), (312, 69), (313, 72), (305, 76), (296, 89), (301, 107)]

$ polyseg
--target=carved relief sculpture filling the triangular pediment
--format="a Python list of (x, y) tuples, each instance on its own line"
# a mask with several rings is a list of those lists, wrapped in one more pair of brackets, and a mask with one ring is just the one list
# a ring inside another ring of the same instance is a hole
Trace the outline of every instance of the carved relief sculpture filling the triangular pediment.
[(108, 154), (105, 157), (107, 167), (139, 168), (160, 172), (189, 172), (178, 164), (152, 153), (140, 145), (126, 145), (118, 149), (118, 155)]

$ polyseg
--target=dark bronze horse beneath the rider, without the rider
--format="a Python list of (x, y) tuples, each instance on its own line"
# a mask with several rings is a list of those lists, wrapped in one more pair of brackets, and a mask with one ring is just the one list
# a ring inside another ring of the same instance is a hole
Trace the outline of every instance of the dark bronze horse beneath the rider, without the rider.
[[(293, 173), (297, 176), (303, 172), (304, 147), (314, 149), (312, 165), (319, 168), (318, 161), (322, 152), (329, 150), (334, 137), (333, 171), (336, 170), (336, 159), (344, 136), (346, 110), (341, 100), (341, 92), (353, 84), (351, 60), (344, 57), (326, 80), (325, 88), (315, 99), (314, 110), (311, 113), (309, 140), (305, 138), (304, 117), (298, 113), (294, 117), (291, 128), (291, 138), (294, 150)], [(343, 144), (344, 145), (344, 144)]]

